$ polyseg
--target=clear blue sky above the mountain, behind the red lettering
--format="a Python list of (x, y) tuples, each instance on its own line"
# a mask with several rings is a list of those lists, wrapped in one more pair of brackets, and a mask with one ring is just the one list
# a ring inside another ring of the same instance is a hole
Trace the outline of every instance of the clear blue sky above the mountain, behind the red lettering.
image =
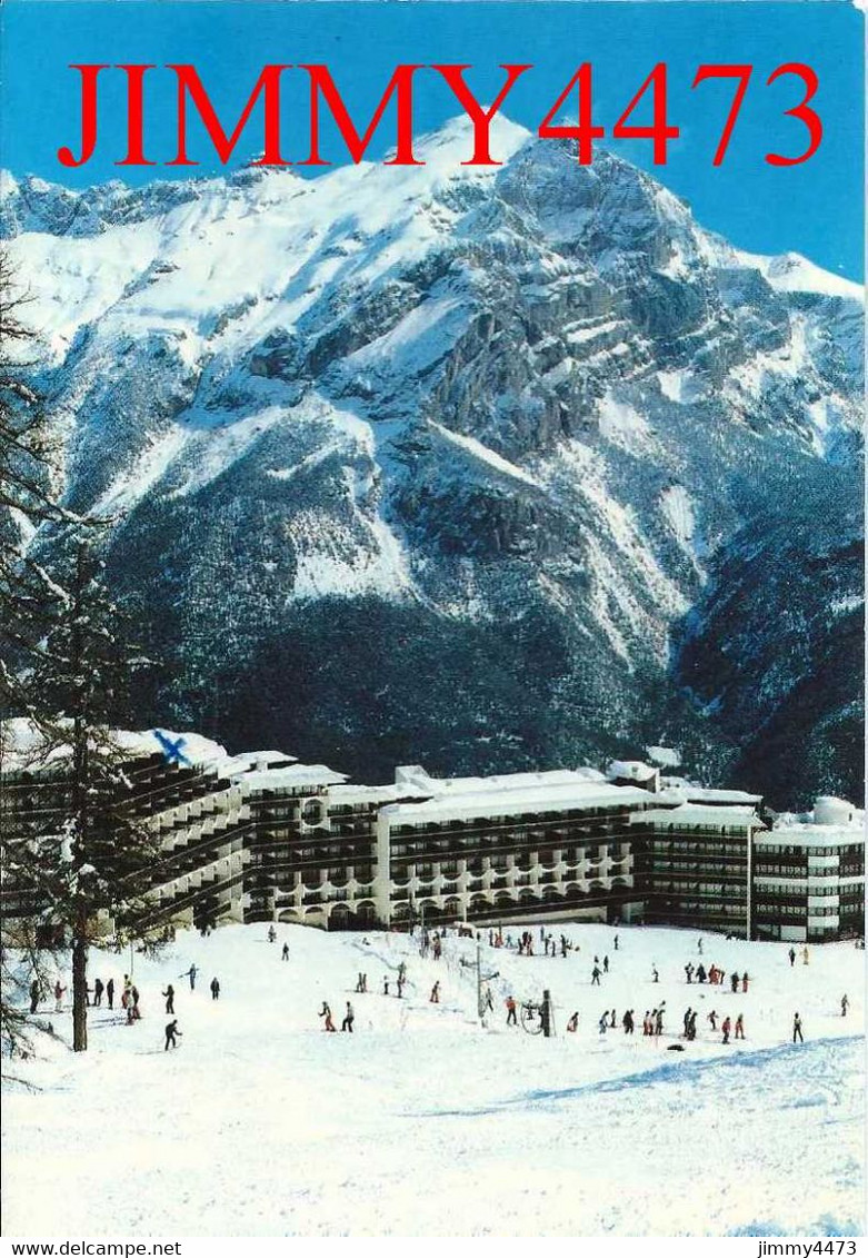
[[(582, 62), (594, 67), (594, 122), (612, 125), (657, 62), (668, 64), (670, 121), (681, 137), (670, 161), (654, 167), (651, 143), (607, 141), (651, 170), (691, 205), (696, 218), (735, 244), (759, 253), (795, 249), (853, 279), (863, 276), (863, 15), (843, 4), (136, 4), (33, 3), (3, 6), (3, 117), (0, 160), (16, 175), (36, 174), (70, 186), (123, 177), (190, 177), (190, 170), (118, 167), (123, 155), (121, 75), (104, 75), (100, 146), (80, 171), (57, 160), (62, 145), (79, 146), (75, 62), (141, 63), (158, 67), (192, 62), (231, 130), (263, 64), (325, 62), (357, 127), (363, 131), (398, 62), (466, 62), (480, 101), (492, 99), (502, 62), (531, 62), (535, 69), (514, 88), (505, 112), (536, 130)], [(755, 67), (745, 103), (721, 167), (712, 156), (732, 88), (705, 83), (691, 91), (702, 62)], [(785, 111), (803, 91), (794, 78), (765, 86), (785, 62), (804, 62), (819, 75), (814, 107), (824, 138), (809, 161), (774, 167), (765, 153), (796, 153), (805, 130)], [(420, 75), (416, 131), (458, 112), (446, 84)], [(114, 91), (113, 91), (114, 88)], [(393, 142), (391, 111), (369, 156)], [(261, 146), (259, 112), (236, 150)], [(638, 118), (636, 121), (644, 121)], [(307, 88), (289, 72), (284, 93), (285, 156), (307, 156)], [(168, 72), (149, 75), (146, 98), (148, 156), (173, 156), (175, 93)], [(196, 174), (220, 167), (201, 132), (191, 132)], [(324, 155), (345, 150), (324, 132)]]

